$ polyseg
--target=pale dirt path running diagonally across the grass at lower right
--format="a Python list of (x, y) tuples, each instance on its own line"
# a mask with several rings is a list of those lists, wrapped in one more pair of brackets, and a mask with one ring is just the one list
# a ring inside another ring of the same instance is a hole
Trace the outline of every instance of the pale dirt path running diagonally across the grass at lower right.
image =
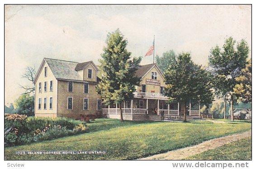
[(157, 154), (138, 160), (182, 160), (190, 155), (196, 155), (207, 150), (223, 146), (225, 144), (236, 142), (242, 138), (251, 136), (251, 131), (240, 134), (233, 134), (225, 137), (215, 138), (206, 142), (202, 142), (196, 146), (185, 147), (175, 151), (169, 151), (163, 154)]

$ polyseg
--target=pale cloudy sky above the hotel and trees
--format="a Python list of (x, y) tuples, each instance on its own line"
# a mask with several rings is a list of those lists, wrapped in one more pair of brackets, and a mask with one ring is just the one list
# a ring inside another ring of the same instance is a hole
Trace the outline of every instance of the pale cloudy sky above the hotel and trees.
[(227, 37), (245, 39), (251, 50), (251, 5), (5, 5), (5, 105), (24, 92), (19, 84), (32, 85), (22, 74), (43, 58), (98, 65), (117, 28), (141, 64), (153, 62), (144, 55), (155, 35), (155, 55), (190, 52), (207, 65), (211, 48)]

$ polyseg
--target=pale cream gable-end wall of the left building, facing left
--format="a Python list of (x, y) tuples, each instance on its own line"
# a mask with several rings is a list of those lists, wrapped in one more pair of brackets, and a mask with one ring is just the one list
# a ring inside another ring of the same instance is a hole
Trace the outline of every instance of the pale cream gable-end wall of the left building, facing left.
[[(44, 77), (44, 68), (47, 67), (47, 77)], [(50, 91), (50, 81), (52, 80), (52, 91)], [(47, 91), (44, 92), (44, 82), (47, 82)], [(39, 82), (41, 82), (41, 92), (39, 93)], [(47, 108), (43, 109), (44, 97), (47, 97)], [(52, 109), (50, 106), (52, 97)], [(41, 98), (41, 110), (38, 110), (38, 100)], [(36, 117), (57, 117), (57, 80), (54, 77), (47, 63), (43, 65), (38, 80), (35, 84), (35, 116)]]

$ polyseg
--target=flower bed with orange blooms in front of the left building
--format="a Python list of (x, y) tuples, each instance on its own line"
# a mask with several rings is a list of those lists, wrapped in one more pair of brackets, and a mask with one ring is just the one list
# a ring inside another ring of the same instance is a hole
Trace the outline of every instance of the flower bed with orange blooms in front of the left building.
[(17, 146), (31, 142), (52, 140), (86, 131), (85, 122), (74, 119), (27, 117), (5, 114), (5, 146)]

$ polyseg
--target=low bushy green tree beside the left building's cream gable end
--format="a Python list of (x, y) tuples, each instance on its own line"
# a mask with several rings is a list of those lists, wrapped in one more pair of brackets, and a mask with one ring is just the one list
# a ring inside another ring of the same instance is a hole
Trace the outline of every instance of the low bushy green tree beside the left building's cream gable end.
[(16, 111), (18, 114), (33, 115), (34, 113), (34, 96), (28, 93), (22, 94), (15, 100)]

